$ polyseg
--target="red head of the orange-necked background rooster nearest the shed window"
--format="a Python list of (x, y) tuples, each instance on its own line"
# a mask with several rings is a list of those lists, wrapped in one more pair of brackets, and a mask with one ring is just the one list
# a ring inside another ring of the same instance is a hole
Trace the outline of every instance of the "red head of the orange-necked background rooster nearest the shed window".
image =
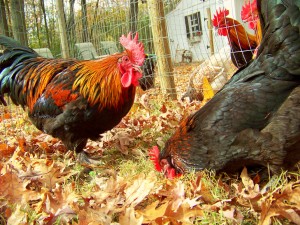
[(231, 18), (227, 18), (229, 15), (228, 9), (219, 9), (216, 11), (214, 18), (212, 20), (213, 26), (218, 29), (218, 34), (222, 36), (227, 36), (228, 32), (228, 22)]

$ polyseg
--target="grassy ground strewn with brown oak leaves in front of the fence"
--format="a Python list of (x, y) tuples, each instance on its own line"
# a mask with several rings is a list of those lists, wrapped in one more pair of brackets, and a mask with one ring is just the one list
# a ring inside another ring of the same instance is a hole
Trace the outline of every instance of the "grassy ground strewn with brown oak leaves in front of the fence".
[[(243, 170), (167, 180), (148, 149), (202, 105), (162, 101), (157, 89), (86, 151), (86, 168), (61, 142), (35, 129), (23, 110), (0, 108), (0, 224), (300, 224), (299, 171), (263, 180)], [(85, 171), (85, 173), (83, 173)]]

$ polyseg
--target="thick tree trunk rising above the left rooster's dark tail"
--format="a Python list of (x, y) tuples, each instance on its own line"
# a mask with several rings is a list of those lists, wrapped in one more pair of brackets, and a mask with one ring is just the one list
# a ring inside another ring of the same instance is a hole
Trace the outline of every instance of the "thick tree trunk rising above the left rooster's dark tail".
[(11, 0), (11, 22), (14, 38), (22, 45), (28, 46), (25, 13), (24, 13), (24, 0)]

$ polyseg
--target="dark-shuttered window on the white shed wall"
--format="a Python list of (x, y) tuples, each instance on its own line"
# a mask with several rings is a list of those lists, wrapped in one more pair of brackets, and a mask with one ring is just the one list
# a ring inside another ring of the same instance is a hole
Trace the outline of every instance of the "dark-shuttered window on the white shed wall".
[(185, 16), (185, 27), (188, 39), (191, 41), (200, 41), (200, 36), (202, 36), (200, 12)]

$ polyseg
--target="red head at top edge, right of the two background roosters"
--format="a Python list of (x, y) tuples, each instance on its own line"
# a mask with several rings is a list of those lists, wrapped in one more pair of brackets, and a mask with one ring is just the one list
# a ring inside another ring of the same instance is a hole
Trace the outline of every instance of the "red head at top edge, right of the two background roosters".
[(250, 0), (248, 3), (243, 5), (241, 11), (241, 18), (244, 22), (248, 23), (248, 26), (252, 30), (257, 29), (257, 20), (258, 18), (258, 10), (256, 0), (253, 0), (251, 3)]

